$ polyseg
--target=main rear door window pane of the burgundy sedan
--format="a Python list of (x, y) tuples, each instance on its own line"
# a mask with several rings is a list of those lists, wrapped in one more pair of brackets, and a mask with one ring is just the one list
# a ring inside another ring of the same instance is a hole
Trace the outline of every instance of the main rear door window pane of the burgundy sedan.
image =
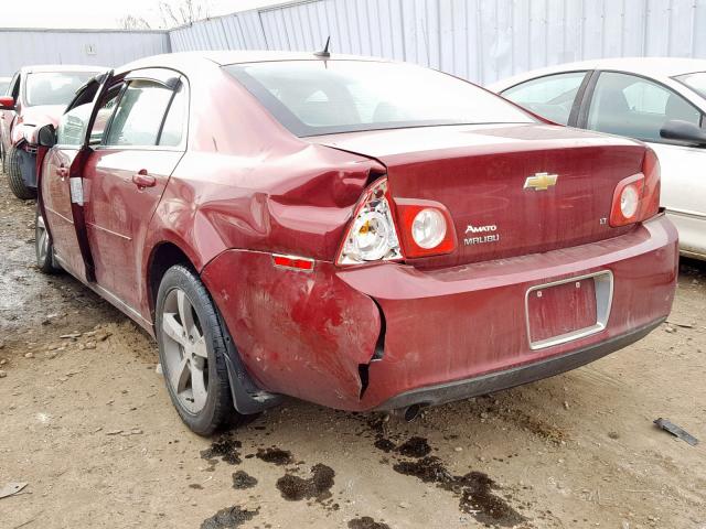
[(173, 91), (148, 80), (131, 82), (116, 108), (106, 145), (157, 145)]

